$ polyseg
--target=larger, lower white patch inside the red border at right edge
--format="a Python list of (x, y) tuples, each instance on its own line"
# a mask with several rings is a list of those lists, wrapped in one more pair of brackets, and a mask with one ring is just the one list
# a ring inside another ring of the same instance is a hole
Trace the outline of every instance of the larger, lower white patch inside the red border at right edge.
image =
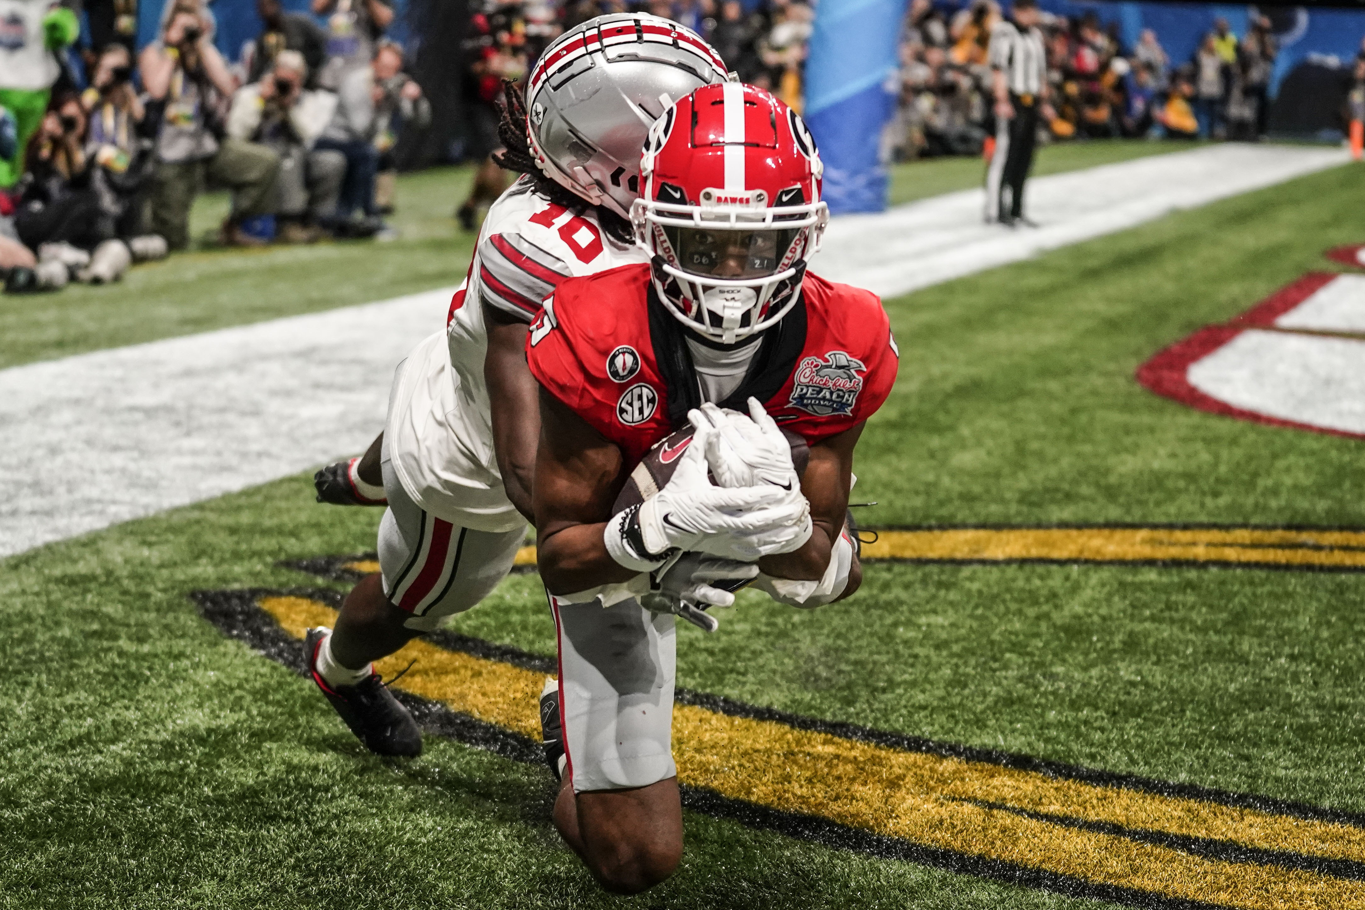
[(1192, 363), (1186, 375), (1234, 408), (1365, 432), (1365, 340), (1249, 329)]

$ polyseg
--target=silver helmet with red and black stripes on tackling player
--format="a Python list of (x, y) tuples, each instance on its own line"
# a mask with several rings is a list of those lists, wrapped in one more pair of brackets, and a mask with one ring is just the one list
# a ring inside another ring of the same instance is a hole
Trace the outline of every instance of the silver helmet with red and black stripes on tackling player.
[(672, 19), (588, 19), (546, 48), (527, 80), (531, 153), (554, 181), (629, 218), (650, 126), (674, 101), (726, 78), (721, 55)]

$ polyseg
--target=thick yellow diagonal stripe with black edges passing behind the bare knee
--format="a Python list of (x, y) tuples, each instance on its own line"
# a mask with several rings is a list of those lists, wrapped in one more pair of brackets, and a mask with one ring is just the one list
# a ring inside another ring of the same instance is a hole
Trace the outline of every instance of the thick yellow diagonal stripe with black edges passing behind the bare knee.
[[(336, 613), (315, 600), (262, 598), (295, 637)], [(377, 664), (400, 688), (539, 738), (541, 674), (414, 641)], [(1168, 898), (1248, 910), (1365, 910), (1365, 883), (1314, 872), (1208, 860), (1110, 834), (1026, 819), (1016, 809), (1249, 847), (1365, 862), (1365, 831), (1197, 799), (1048, 778), (796, 730), (677, 705), (674, 757), (682, 783), (875, 834)]]

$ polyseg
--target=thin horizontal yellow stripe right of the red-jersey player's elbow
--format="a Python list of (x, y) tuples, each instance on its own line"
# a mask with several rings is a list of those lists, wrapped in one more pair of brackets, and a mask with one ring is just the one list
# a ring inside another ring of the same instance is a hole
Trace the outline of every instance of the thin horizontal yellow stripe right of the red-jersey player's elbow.
[(1365, 531), (950, 528), (879, 531), (863, 559), (1058, 559), (1365, 568)]

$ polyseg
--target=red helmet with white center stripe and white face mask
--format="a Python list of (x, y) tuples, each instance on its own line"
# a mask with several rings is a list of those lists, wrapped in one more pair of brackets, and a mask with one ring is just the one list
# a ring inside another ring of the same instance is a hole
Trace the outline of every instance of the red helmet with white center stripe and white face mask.
[(785, 317), (829, 222), (822, 172), (801, 117), (762, 89), (703, 86), (665, 111), (631, 221), (669, 311), (723, 344)]

